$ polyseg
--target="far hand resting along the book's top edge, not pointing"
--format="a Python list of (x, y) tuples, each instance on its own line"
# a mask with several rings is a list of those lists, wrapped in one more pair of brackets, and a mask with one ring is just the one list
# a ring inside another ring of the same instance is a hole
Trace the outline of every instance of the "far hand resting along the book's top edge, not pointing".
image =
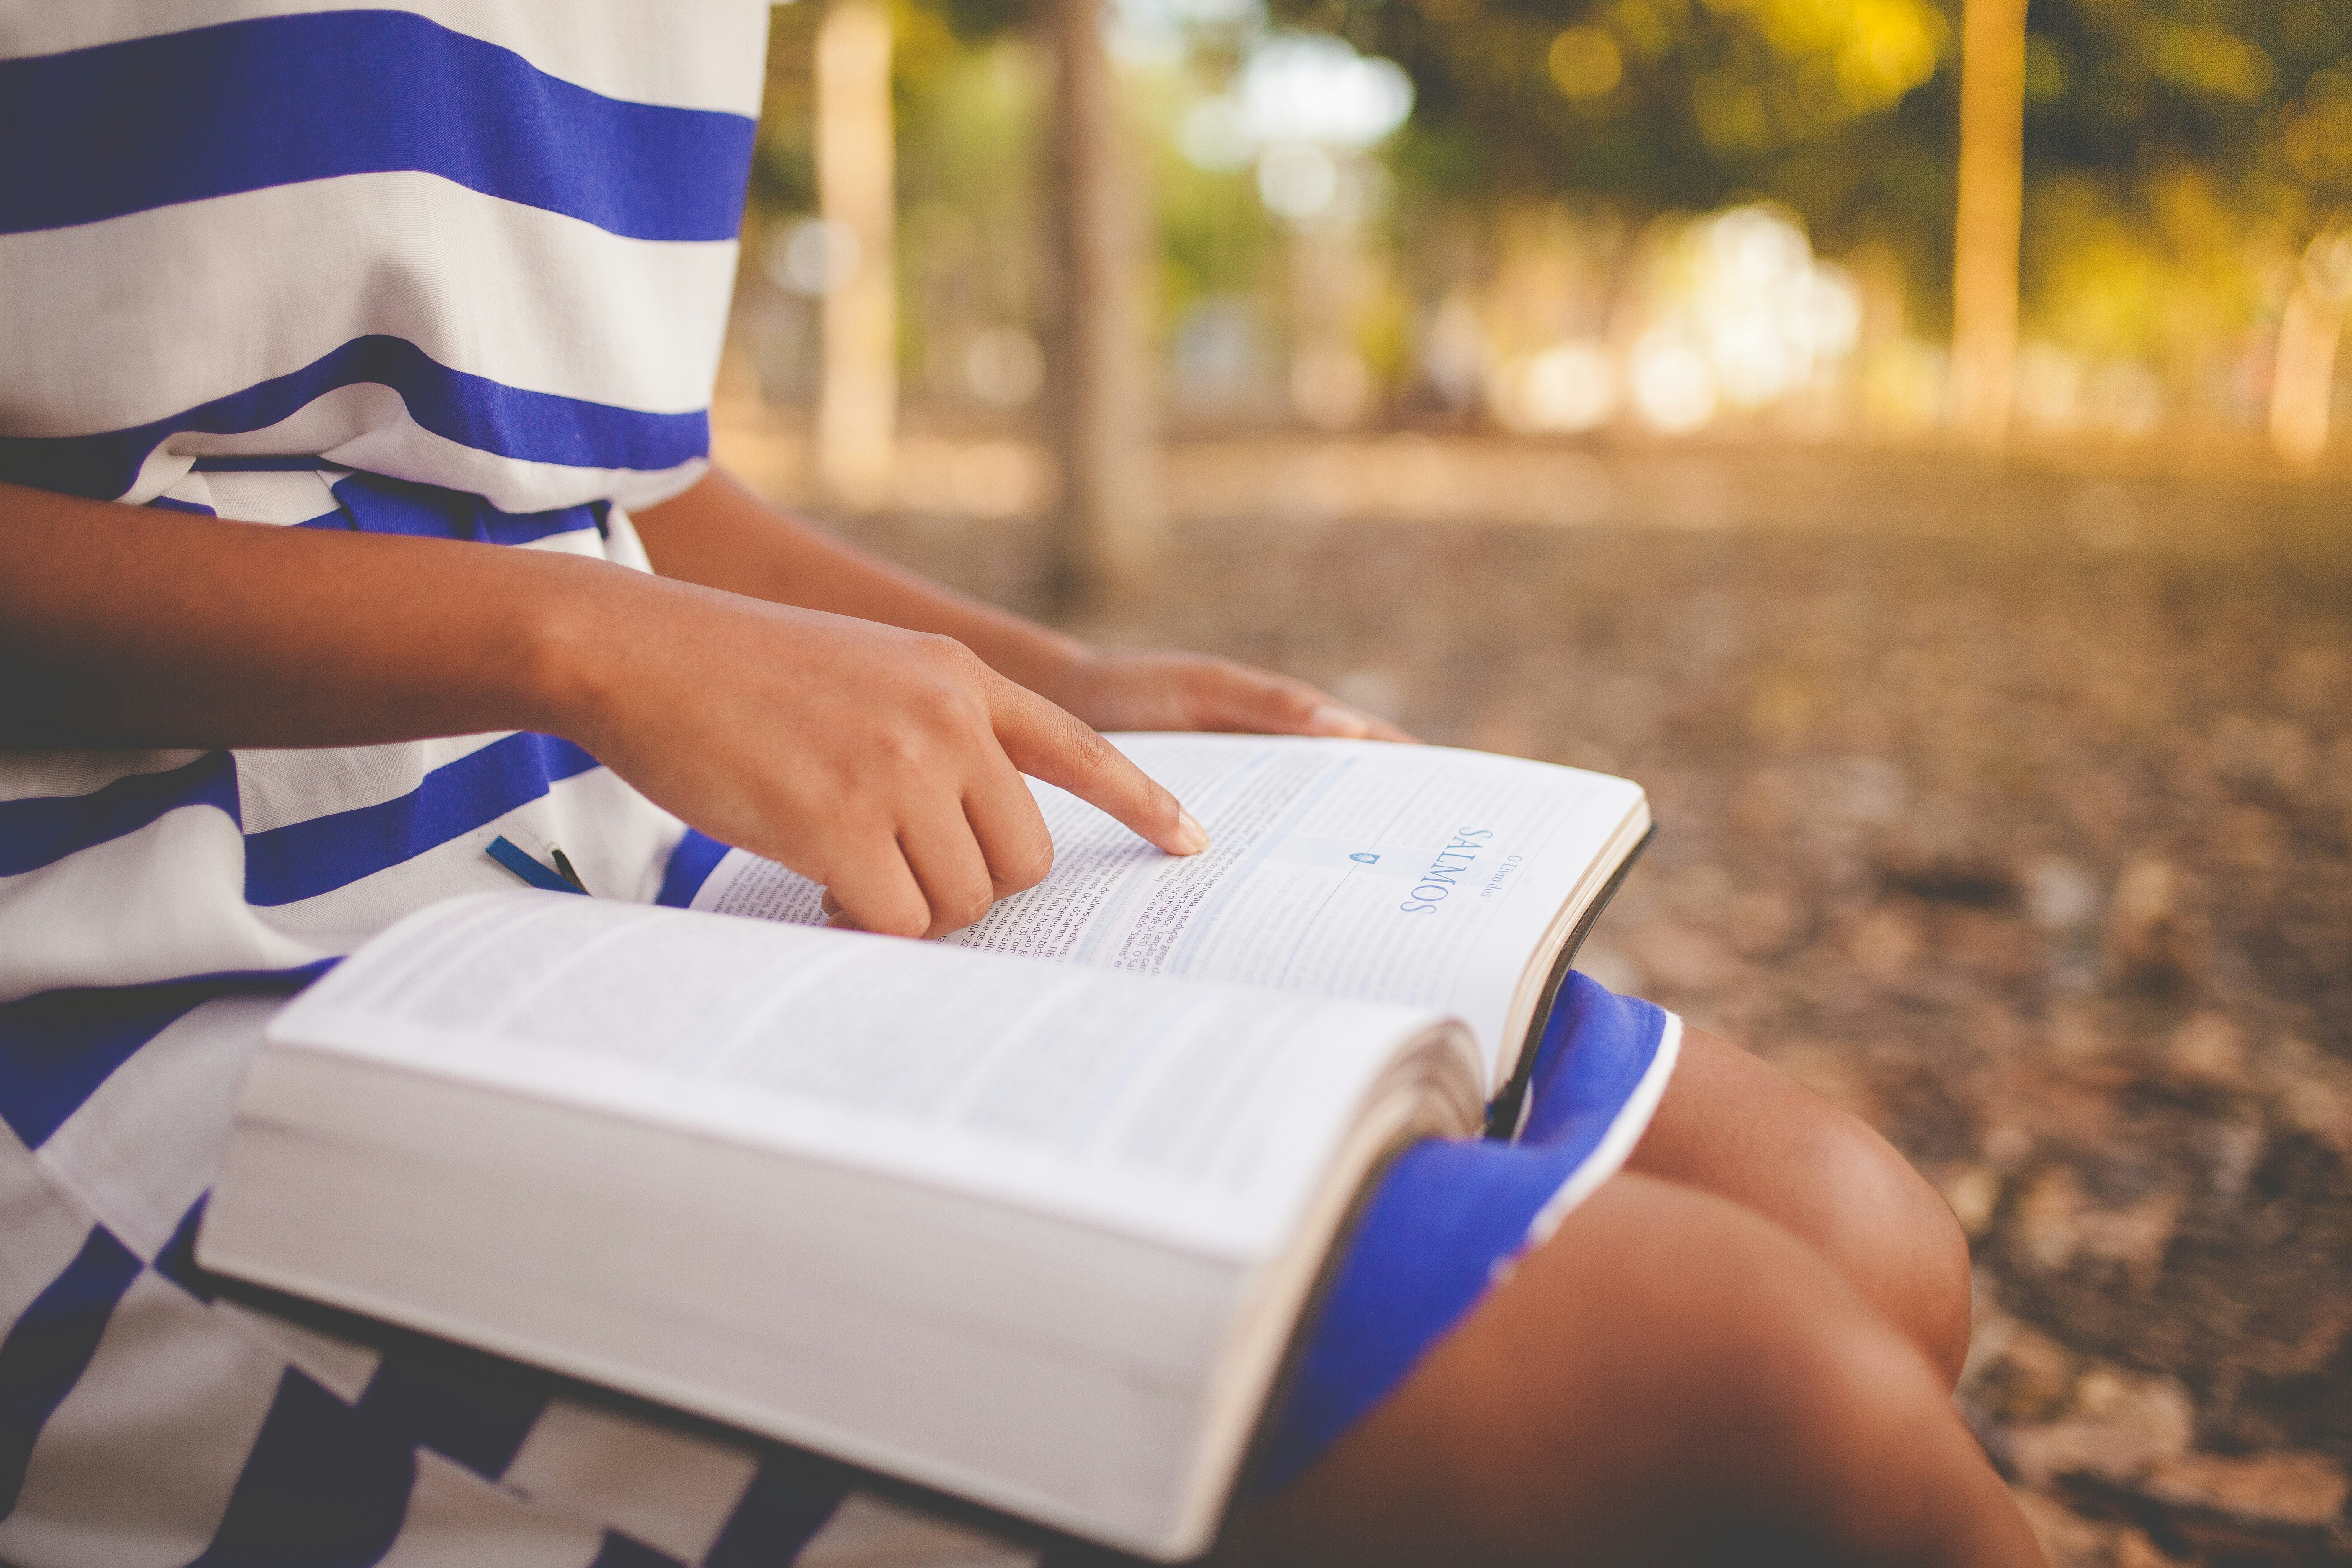
[(1411, 741), (1315, 686), (1207, 654), (1087, 651), (1040, 684), (1094, 729), (1228, 729), (1256, 736)]

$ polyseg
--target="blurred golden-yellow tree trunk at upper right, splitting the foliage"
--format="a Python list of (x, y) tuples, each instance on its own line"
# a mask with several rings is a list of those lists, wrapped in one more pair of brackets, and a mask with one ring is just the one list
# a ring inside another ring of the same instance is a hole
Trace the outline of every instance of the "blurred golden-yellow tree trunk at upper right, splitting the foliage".
[(2009, 440), (2025, 226), (2025, 0), (1966, 0), (1959, 35), (1959, 221), (1952, 266), (1952, 430)]

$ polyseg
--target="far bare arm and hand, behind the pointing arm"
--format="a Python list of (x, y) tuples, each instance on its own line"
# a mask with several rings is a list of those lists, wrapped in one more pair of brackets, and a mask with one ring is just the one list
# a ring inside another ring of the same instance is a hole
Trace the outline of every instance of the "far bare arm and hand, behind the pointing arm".
[(955, 637), (1007, 679), (1096, 729), (1411, 738), (1287, 675), (1202, 654), (1096, 651), (868, 555), (717, 470), (635, 522), (663, 576)]

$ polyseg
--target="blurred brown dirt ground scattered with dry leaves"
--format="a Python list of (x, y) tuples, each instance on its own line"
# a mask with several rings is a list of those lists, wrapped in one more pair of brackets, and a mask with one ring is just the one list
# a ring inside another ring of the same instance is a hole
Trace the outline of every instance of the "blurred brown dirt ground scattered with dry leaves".
[[(2352, 489), (1470, 454), (1454, 522), (1235, 461), (1171, 454), (1160, 590), (1084, 630), (1639, 778), (1585, 966), (1943, 1187), (2053, 1559), (2352, 1563)], [(1049, 609), (1033, 522), (842, 527)]]

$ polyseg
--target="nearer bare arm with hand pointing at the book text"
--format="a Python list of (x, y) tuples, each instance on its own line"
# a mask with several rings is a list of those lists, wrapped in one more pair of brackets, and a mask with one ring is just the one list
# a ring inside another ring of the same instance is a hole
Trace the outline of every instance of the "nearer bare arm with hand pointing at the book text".
[(950, 637), (607, 562), (270, 529), (0, 484), (0, 745), (576, 741), (823, 882), (868, 931), (953, 931), (1051, 865), (1018, 773), (1207, 846), (1101, 736)]

